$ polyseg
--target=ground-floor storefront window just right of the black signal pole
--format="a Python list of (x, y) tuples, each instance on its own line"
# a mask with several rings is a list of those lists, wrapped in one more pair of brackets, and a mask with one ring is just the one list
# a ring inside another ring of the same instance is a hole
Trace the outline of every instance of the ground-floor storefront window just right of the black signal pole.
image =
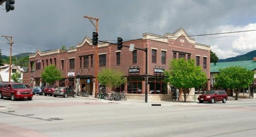
[(149, 78), (150, 94), (167, 94), (167, 84), (163, 78)]

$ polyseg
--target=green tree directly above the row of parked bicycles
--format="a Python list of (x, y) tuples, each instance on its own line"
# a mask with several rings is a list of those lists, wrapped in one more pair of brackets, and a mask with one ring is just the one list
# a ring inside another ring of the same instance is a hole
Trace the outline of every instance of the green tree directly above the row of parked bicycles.
[(126, 77), (124, 77), (122, 71), (115, 69), (102, 69), (98, 74), (98, 79), (99, 83), (107, 86), (111, 91), (114, 91), (116, 87), (124, 84), (126, 81)]

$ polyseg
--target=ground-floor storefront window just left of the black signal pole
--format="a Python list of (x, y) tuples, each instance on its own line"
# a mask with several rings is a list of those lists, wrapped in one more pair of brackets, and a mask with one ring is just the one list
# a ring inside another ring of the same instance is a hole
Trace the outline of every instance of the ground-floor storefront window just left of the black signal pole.
[(127, 93), (142, 94), (142, 77), (128, 77)]

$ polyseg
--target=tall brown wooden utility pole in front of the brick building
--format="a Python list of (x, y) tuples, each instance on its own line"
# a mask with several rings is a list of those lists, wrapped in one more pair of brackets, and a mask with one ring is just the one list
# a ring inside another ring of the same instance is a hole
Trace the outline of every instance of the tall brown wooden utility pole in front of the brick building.
[[(85, 18), (87, 18), (88, 20), (90, 20), (90, 22), (93, 24), (93, 26), (96, 28), (96, 32), (98, 34), (99, 31), (99, 19), (96, 17), (90, 17), (90, 16), (84, 16)], [(96, 20), (96, 25), (93, 22), (93, 20)], [(95, 48), (95, 97), (97, 97), (97, 92), (98, 92), (98, 44), (96, 45)]]

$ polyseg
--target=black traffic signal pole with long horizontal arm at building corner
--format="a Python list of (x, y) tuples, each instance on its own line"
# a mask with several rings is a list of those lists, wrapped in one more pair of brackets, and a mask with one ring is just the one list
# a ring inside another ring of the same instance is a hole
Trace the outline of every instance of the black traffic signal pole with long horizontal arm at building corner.
[[(106, 42), (106, 41), (101, 41), (101, 40), (98, 40), (98, 41), (102, 42), (102, 43), (109, 43), (109, 44), (117, 45), (116, 43), (111, 43), (111, 42)], [(122, 45), (122, 46), (130, 48), (130, 46), (125, 46), (125, 45)], [(146, 61), (145, 61), (145, 103), (148, 103), (148, 48), (141, 49), (141, 48), (135, 48), (134, 47), (134, 49), (146, 52)]]

